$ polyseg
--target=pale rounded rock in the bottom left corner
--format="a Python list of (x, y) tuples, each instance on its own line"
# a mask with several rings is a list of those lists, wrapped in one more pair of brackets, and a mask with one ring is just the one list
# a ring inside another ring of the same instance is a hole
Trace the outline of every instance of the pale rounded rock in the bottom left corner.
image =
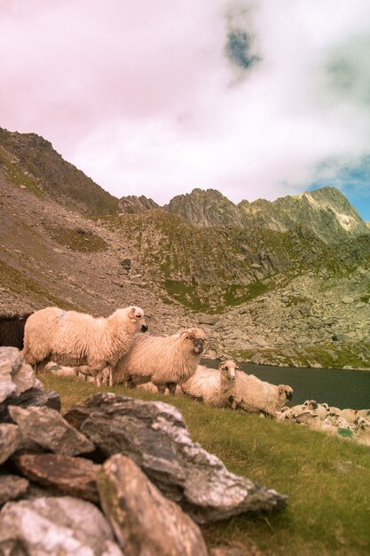
[(124, 556), (98, 508), (72, 496), (5, 504), (0, 512), (0, 553)]

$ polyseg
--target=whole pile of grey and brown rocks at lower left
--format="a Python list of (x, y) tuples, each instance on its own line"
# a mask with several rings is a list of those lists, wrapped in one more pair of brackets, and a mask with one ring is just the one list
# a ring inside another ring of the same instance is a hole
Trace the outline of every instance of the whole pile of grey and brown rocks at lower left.
[(242, 556), (209, 549), (198, 524), (287, 504), (193, 442), (169, 404), (97, 393), (59, 409), (0, 348), (0, 554)]

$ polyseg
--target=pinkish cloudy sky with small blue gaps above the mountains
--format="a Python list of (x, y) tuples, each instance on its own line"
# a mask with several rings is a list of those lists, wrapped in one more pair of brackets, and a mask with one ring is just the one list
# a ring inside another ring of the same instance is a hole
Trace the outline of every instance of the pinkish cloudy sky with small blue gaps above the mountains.
[(368, 0), (0, 0), (0, 127), (116, 197), (338, 187), (370, 220)]

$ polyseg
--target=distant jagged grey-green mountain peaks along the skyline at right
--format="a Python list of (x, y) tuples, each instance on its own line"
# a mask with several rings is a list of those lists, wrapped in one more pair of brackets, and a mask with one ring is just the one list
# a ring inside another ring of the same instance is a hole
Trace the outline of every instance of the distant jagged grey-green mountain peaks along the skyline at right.
[(179, 214), (194, 226), (238, 226), (287, 232), (304, 227), (325, 242), (368, 234), (368, 226), (335, 187), (323, 187), (270, 202), (259, 199), (238, 205), (214, 189), (177, 195), (164, 210)]

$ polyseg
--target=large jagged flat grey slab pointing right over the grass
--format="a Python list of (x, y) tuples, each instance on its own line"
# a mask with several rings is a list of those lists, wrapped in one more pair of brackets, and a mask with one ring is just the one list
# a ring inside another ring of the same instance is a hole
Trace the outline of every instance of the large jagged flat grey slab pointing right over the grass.
[(65, 414), (106, 456), (130, 457), (194, 520), (281, 509), (287, 496), (230, 473), (193, 442), (181, 414), (160, 401), (98, 393)]

